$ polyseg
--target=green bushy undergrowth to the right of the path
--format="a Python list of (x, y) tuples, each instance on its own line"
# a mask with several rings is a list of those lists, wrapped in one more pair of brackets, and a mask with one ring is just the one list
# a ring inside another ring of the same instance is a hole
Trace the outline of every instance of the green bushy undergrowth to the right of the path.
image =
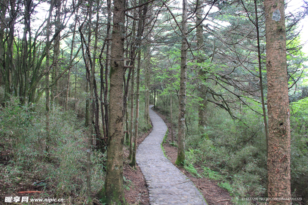
[[(291, 192), (308, 200), (308, 100), (291, 109)], [(160, 104), (162, 105), (162, 104)], [(177, 106), (172, 112), (177, 112)], [(157, 106), (170, 121), (169, 106)], [(195, 110), (194, 110), (195, 109)], [(195, 177), (217, 180), (233, 196), (234, 204), (250, 204), (242, 197), (266, 197), (267, 155), (263, 119), (246, 110), (241, 120), (232, 120), (221, 109), (210, 107), (207, 126), (198, 130), (196, 107), (187, 107), (185, 169)], [(176, 117), (174, 117), (176, 118)], [(173, 118), (173, 124), (176, 120)], [(264, 202), (260, 202), (264, 203)]]

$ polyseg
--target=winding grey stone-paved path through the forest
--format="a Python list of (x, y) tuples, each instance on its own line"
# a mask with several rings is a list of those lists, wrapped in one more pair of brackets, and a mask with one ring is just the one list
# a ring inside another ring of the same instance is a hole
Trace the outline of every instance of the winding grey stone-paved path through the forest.
[(152, 109), (150, 117), (153, 130), (136, 153), (137, 164), (148, 184), (150, 204), (206, 205), (193, 182), (164, 156), (160, 144), (167, 131), (166, 124)]

